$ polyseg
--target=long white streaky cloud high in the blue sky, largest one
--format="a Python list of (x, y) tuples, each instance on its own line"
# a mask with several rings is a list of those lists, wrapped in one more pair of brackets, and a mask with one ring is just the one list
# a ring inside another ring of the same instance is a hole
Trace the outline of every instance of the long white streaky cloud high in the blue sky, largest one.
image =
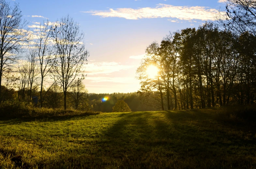
[(143, 19), (143, 18), (177, 18), (183, 20), (214, 20), (217, 9), (205, 6), (172, 6), (158, 4), (157, 7), (144, 7), (139, 9), (117, 8), (108, 11), (86, 11), (92, 15), (105, 17), (119, 17), (125, 19)]

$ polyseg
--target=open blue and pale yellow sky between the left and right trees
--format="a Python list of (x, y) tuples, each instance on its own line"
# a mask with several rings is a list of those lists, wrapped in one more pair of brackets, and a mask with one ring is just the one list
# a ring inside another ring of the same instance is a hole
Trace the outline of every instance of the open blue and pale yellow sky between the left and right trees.
[[(136, 69), (145, 48), (169, 32), (214, 20), (224, 0), (7, 0), (19, 3), (28, 27), (69, 14), (90, 52), (83, 81), (89, 93), (140, 89)], [(35, 28), (34, 28), (35, 29)]]

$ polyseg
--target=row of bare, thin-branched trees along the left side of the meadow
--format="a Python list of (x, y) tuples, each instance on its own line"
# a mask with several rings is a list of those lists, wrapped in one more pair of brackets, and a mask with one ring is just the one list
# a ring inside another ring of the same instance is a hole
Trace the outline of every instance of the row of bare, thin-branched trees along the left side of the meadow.
[(79, 23), (67, 15), (43, 21), (31, 31), (25, 28), (28, 22), (22, 20), (18, 4), (0, 4), (0, 104), (16, 89), (19, 101), (31, 102), (39, 93), (43, 107), (47, 94), (61, 88), (64, 109), (68, 93), (78, 108), (86, 93), (82, 80), (89, 57)]

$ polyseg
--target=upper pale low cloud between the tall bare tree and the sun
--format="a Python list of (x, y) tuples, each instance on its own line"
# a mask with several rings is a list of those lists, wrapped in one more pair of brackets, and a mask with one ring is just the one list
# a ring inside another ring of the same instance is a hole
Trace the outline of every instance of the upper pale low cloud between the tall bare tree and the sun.
[[(134, 67), (133, 65), (121, 65), (117, 62), (93, 62), (85, 65), (87, 75), (110, 74), (127, 70)], [(88, 71), (87, 71), (88, 70)]]

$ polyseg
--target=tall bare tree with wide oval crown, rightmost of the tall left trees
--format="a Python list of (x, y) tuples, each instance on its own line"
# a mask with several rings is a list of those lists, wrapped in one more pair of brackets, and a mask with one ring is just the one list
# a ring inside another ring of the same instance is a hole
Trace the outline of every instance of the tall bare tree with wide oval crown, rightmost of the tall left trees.
[(82, 68), (89, 53), (82, 42), (84, 33), (79, 30), (79, 23), (70, 16), (56, 21), (52, 27), (52, 37), (55, 42), (56, 62), (54, 64), (54, 78), (62, 86), (64, 93), (64, 109), (67, 109), (67, 90), (72, 82), (81, 75)]

